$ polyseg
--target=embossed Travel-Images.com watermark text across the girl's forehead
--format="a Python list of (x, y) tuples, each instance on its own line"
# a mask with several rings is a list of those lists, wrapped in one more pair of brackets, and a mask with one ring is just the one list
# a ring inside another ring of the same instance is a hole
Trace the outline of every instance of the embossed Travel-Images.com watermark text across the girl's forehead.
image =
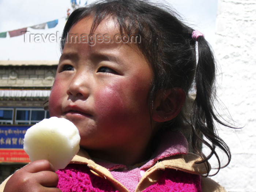
[[(42, 34), (42, 33), (30, 33), (27, 31), (24, 35), (25, 43), (58, 43), (63, 41), (59, 31), (51, 34)], [(96, 43), (140, 43), (140, 35), (138, 34), (115, 34), (113, 38), (109, 34), (67, 34), (65, 43), (87, 43), (91, 46)]]

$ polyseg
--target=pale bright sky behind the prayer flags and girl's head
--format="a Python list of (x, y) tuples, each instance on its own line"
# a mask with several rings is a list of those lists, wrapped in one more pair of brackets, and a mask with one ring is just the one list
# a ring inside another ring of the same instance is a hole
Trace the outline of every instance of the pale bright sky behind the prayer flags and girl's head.
[[(86, 0), (80, 1), (81, 5), (86, 2)], [(93, 1), (87, 0), (87, 4)], [(170, 4), (193, 29), (204, 33), (205, 38), (214, 47), (218, 0), (158, 0), (158, 2)], [(0, 60), (59, 60), (61, 53), (57, 39), (64, 28), (68, 8), (72, 9), (70, 0), (0, 0), (0, 33), (28, 27), (26, 34), (10, 37), (7, 33), (6, 38), (0, 38)], [(58, 19), (58, 24), (54, 28), (29, 27), (55, 19)], [(41, 42), (35, 42), (34, 38), (30, 38), (33, 34), (41, 34)], [(57, 39), (49, 39), (50, 34)]]

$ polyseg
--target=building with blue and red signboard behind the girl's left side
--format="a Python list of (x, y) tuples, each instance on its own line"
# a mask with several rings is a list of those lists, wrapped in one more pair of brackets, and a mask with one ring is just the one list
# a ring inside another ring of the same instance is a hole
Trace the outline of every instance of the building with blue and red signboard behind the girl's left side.
[(43, 104), (58, 61), (0, 61), (0, 182), (29, 162), (23, 150), (27, 128), (49, 118)]

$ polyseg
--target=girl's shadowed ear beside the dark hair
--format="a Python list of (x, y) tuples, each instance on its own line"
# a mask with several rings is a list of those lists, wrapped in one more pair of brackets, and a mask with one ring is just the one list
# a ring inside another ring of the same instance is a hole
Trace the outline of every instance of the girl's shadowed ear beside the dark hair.
[(159, 123), (172, 120), (180, 113), (185, 98), (185, 91), (179, 87), (160, 90), (155, 97), (152, 120)]

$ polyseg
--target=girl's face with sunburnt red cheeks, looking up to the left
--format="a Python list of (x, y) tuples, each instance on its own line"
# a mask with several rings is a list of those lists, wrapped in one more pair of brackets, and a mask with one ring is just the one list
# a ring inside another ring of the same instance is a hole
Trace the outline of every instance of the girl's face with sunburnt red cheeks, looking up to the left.
[[(123, 163), (130, 164), (143, 158), (151, 138), (148, 94), (153, 72), (137, 46), (115, 42), (119, 30), (112, 19), (94, 31), (112, 41), (75, 42), (75, 36), (90, 34), (91, 25), (92, 19), (85, 18), (69, 31), (49, 97), (50, 116), (72, 121), (80, 146), (96, 157), (126, 158)], [(141, 157), (132, 160), (134, 155)]]

